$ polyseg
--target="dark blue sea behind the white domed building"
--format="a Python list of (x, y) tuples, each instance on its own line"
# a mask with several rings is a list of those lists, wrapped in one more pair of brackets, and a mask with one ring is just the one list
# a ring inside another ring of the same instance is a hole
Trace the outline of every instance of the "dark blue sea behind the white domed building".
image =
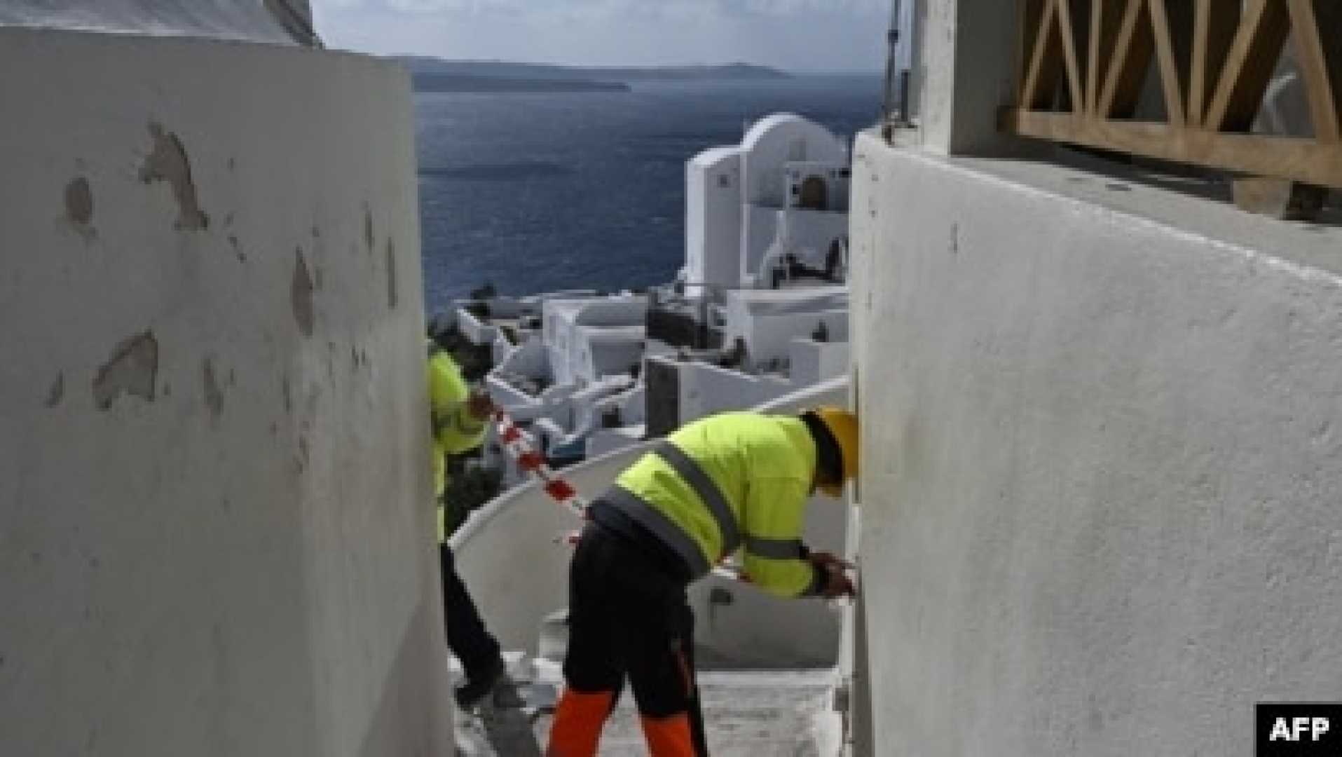
[(790, 111), (851, 137), (879, 77), (633, 83), (631, 93), (415, 95), (425, 309), (505, 294), (617, 290), (684, 259), (684, 162)]

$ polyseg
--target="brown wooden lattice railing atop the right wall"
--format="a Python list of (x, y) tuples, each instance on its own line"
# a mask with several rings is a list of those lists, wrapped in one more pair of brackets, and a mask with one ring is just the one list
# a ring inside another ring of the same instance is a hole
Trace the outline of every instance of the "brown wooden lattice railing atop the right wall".
[[(1007, 130), (1342, 188), (1342, 0), (1019, 4), (1019, 101)], [(1287, 39), (1314, 136), (1252, 134)], [(1134, 121), (1153, 60), (1166, 119)]]

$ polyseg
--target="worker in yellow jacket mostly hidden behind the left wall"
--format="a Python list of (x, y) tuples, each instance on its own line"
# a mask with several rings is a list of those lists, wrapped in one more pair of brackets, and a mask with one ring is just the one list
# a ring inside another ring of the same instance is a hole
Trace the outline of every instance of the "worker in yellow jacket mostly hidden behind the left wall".
[(456, 703), (467, 710), (488, 694), (505, 672), (498, 640), (484, 627), (466, 584), (456, 574), (452, 548), (447, 544), (447, 455), (460, 455), (480, 446), (484, 424), (494, 409), (488, 395), (471, 393), (462, 369), (446, 349), (428, 342), (428, 399), (433, 424), (433, 486), (437, 494), (437, 553), (443, 568), (443, 611), (447, 646), (462, 660), (466, 683), (456, 689)]

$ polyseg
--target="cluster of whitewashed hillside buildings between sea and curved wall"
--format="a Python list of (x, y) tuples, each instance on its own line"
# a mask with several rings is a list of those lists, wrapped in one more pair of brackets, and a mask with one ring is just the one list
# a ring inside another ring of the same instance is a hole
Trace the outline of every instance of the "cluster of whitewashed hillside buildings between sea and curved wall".
[[(490, 395), (556, 463), (841, 376), (848, 184), (840, 137), (769, 115), (687, 161), (674, 283), (462, 301), (456, 325), (493, 345)], [(522, 479), (498, 444), (483, 464)]]

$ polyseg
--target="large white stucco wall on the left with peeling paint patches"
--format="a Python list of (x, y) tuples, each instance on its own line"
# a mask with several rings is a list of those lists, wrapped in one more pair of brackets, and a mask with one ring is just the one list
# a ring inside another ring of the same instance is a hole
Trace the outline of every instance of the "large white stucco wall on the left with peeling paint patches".
[(0, 30), (0, 752), (451, 754), (409, 91)]

